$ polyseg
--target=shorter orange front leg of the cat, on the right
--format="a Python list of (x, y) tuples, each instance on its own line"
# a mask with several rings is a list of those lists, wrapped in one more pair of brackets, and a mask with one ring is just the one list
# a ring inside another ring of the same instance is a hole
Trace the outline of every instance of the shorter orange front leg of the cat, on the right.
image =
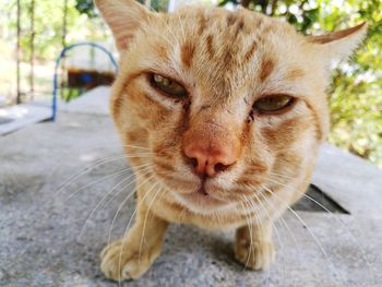
[(272, 222), (243, 226), (236, 230), (236, 259), (252, 270), (265, 270), (275, 259), (272, 242)]

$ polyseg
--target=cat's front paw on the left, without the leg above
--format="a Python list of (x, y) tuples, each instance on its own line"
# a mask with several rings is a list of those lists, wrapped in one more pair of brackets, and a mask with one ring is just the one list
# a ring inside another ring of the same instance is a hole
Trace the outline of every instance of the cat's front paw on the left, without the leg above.
[(100, 252), (100, 270), (112, 280), (136, 279), (150, 268), (159, 252), (155, 249), (140, 250), (140, 244), (119, 240)]

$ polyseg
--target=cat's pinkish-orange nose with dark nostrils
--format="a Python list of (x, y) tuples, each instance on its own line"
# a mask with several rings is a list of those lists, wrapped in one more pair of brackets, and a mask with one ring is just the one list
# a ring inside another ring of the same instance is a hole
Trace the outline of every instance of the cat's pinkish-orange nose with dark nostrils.
[(236, 148), (228, 143), (211, 146), (206, 142), (193, 142), (186, 144), (183, 152), (191, 159), (198, 175), (211, 178), (218, 172), (225, 171), (237, 160)]

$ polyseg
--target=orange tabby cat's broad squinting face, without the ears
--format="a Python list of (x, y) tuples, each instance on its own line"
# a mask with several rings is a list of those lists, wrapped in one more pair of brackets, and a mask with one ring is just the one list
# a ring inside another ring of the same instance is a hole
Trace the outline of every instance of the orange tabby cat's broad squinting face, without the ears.
[(199, 213), (306, 180), (329, 127), (325, 40), (244, 10), (135, 5), (114, 28), (122, 58), (111, 101), (124, 144), (153, 153), (132, 164), (153, 165)]

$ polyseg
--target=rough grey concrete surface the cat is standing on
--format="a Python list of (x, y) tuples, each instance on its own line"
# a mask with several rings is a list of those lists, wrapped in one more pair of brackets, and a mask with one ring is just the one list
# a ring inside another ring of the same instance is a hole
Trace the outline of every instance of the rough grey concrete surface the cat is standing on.
[[(118, 187), (129, 169), (112, 176), (127, 164), (105, 109), (107, 92), (65, 107), (57, 122), (0, 137), (0, 286), (118, 286), (103, 277), (98, 253), (133, 184)], [(312, 182), (348, 214), (286, 213), (268, 272), (235, 262), (231, 232), (172, 225), (147, 274), (123, 286), (382, 286), (382, 171), (325, 145)], [(112, 239), (133, 210), (132, 199)]]

